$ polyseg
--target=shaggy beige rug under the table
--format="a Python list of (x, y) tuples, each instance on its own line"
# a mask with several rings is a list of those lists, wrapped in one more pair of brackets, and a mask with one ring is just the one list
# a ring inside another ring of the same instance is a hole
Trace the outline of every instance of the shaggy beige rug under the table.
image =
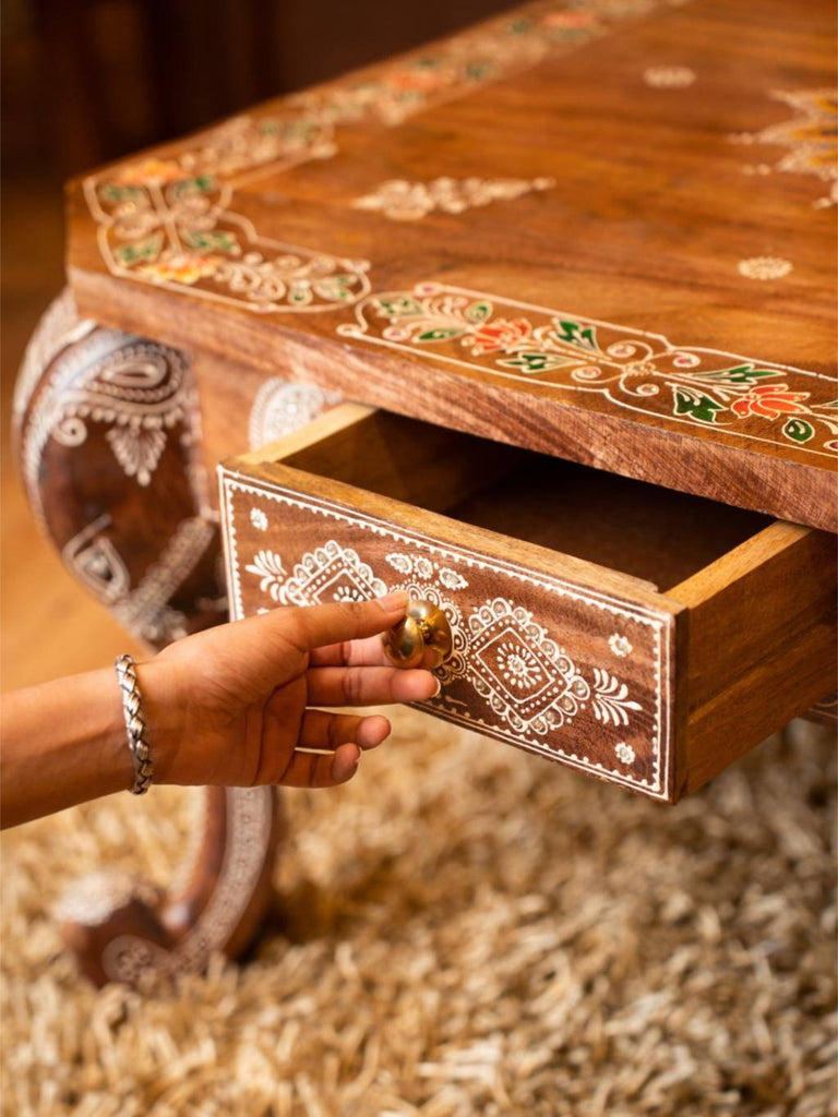
[(49, 907), (168, 879), (188, 793), (4, 838), (3, 1117), (836, 1114), (834, 741), (768, 742), (667, 809), (403, 712), (291, 792), (254, 958), (95, 992)]

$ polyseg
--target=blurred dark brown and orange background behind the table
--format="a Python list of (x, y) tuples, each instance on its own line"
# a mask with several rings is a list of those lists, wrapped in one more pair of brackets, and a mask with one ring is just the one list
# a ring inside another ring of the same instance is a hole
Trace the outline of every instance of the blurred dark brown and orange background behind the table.
[(413, 6), (387, 0), (4, 0), (2, 689), (102, 666), (130, 645), (38, 535), (9, 437), (21, 355), (64, 284), (64, 181), (510, 6), (508, 0)]

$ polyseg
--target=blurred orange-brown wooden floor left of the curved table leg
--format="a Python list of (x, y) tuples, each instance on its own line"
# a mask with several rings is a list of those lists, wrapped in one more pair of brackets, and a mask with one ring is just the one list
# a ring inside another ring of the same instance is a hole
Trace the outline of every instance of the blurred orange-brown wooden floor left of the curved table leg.
[(65, 571), (32, 521), (15, 467), (11, 399), (39, 315), (64, 283), (63, 194), (45, 180), (3, 184), (0, 372), (0, 688), (109, 663), (135, 650)]

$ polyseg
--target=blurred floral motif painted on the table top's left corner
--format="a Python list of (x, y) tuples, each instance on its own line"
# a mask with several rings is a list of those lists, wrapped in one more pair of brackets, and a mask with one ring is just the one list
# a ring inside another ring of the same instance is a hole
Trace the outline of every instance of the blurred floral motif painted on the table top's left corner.
[(369, 290), (365, 262), (258, 237), (229, 209), (229, 187), (212, 178), (164, 182), (158, 168), (142, 185), (116, 180), (85, 182), (99, 246), (115, 275), (189, 287), (260, 314), (334, 309)]

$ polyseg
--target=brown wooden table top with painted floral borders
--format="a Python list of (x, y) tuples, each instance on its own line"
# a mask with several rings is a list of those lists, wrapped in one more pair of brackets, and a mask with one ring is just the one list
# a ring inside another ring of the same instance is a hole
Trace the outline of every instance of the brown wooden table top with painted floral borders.
[(123, 328), (835, 531), (834, 20), (536, 0), (76, 180), (70, 281)]

